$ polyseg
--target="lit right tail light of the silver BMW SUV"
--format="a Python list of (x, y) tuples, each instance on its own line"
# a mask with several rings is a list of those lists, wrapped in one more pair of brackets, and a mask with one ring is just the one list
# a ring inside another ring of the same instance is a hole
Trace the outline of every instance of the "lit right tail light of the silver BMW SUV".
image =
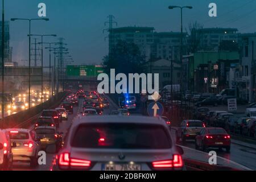
[(183, 160), (181, 155), (174, 155), (172, 160), (152, 162), (152, 167), (155, 169), (181, 168), (183, 167)]

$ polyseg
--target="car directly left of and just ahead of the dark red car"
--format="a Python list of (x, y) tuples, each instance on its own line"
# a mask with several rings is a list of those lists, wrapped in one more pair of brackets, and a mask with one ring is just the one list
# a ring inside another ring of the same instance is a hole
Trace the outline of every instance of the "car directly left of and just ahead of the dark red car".
[(187, 139), (195, 139), (197, 133), (205, 127), (203, 121), (200, 120), (184, 120), (176, 131), (177, 141), (182, 140), (184, 143)]

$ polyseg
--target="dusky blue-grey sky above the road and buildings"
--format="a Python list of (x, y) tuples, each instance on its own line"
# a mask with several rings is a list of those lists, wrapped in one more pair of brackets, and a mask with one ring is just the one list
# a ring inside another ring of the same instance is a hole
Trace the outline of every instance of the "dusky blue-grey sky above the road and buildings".
[[(75, 64), (99, 64), (108, 54), (108, 33), (102, 30), (107, 16), (113, 14), (118, 27), (149, 26), (155, 31), (180, 31), (179, 10), (169, 5), (193, 6), (185, 9), (184, 27), (195, 20), (204, 27), (232, 27), (240, 32), (256, 31), (255, 0), (8, 0), (5, 1), (6, 20), (10, 18), (39, 18), (38, 4), (46, 3), (49, 22), (32, 22), (32, 34), (57, 34), (68, 44)], [(208, 16), (208, 5), (217, 4), (217, 18)], [(28, 22), (10, 22), (10, 44), (13, 61), (28, 59)], [(56, 38), (44, 38), (56, 42)], [(45, 56), (48, 51), (44, 51)], [(48, 60), (48, 57), (47, 57)], [(47, 61), (48, 63), (48, 61)]]

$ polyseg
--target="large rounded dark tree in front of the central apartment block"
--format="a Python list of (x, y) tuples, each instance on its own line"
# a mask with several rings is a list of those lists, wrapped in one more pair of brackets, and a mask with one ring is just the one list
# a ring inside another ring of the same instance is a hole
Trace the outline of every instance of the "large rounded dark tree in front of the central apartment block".
[(105, 56), (103, 64), (105, 73), (115, 69), (115, 73), (142, 73), (145, 57), (141, 55), (139, 47), (134, 43), (127, 43), (119, 40), (113, 47), (111, 53)]

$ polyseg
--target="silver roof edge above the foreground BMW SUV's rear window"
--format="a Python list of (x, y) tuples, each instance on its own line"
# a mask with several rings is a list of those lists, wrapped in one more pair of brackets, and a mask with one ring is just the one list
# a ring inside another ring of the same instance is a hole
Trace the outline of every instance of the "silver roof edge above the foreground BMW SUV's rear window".
[(73, 126), (81, 123), (139, 123), (139, 124), (159, 124), (166, 126), (165, 122), (160, 117), (148, 117), (142, 115), (131, 115), (126, 117), (124, 115), (102, 115), (101, 117), (76, 117), (77, 122), (73, 122)]

